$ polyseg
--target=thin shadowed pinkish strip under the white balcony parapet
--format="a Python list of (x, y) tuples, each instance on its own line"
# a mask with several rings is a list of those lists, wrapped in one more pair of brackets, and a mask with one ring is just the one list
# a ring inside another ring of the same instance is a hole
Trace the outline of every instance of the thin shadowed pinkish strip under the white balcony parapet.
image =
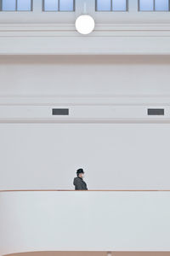
[(170, 256), (170, 252), (30, 252), (13, 253), (3, 256)]

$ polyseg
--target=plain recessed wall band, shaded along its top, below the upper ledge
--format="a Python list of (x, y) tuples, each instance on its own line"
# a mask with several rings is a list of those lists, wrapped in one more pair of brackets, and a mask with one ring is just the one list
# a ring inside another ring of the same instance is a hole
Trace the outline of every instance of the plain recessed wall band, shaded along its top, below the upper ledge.
[(169, 67), (169, 56), (1, 56), (0, 96), (170, 96)]

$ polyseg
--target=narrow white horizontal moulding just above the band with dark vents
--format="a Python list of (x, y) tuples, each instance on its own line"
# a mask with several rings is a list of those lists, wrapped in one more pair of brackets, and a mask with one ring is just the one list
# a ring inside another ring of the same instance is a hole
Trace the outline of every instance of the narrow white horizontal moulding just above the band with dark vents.
[(0, 96), (0, 106), (169, 106), (170, 96)]

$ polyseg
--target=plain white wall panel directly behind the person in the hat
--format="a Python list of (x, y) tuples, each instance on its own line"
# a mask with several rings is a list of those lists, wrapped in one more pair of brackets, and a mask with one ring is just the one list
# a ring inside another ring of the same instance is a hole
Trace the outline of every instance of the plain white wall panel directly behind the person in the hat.
[(170, 189), (170, 124), (0, 124), (0, 189)]

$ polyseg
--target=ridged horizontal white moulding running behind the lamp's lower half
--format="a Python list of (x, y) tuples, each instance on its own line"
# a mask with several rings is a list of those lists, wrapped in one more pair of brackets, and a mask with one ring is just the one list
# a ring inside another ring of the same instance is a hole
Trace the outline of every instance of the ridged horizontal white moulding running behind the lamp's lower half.
[[(168, 37), (170, 25), (168, 24), (127, 24), (108, 25), (97, 24), (94, 32), (86, 35), (87, 38), (95, 37)], [(3, 24), (0, 25), (1, 37), (73, 37), (82, 38), (74, 25), (51, 25), (51, 24)]]

